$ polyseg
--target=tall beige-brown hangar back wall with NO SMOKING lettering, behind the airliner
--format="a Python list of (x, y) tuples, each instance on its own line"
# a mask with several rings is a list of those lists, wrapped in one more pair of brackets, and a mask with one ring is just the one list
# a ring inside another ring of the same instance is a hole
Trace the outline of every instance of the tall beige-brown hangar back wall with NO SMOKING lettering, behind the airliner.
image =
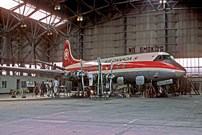
[(85, 28), (81, 35), (85, 60), (150, 51), (198, 58), (202, 57), (202, 12), (173, 9), (126, 16)]

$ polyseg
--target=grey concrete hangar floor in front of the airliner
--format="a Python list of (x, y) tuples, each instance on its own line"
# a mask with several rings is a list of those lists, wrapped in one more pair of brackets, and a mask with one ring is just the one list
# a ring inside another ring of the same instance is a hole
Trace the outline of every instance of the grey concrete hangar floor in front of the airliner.
[(0, 95), (0, 135), (201, 135), (202, 96), (168, 98)]

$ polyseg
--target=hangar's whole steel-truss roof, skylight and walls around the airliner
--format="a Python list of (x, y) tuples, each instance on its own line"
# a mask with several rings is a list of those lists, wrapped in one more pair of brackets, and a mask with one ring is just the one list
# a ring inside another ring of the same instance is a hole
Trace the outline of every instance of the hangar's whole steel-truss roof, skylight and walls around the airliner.
[(168, 52), (201, 90), (201, 7), (200, 0), (1, 1), (1, 65), (51, 68), (35, 60), (62, 65), (68, 39), (73, 56), (83, 60)]

